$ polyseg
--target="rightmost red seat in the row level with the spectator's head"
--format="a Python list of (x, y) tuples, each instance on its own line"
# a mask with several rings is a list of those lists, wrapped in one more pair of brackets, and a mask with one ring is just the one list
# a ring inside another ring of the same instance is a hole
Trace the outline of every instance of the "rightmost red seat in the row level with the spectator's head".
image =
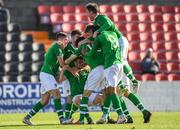
[(177, 52), (173, 52), (173, 51), (166, 52), (166, 60), (172, 62), (179, 62), (179, 57), (177, 55)]

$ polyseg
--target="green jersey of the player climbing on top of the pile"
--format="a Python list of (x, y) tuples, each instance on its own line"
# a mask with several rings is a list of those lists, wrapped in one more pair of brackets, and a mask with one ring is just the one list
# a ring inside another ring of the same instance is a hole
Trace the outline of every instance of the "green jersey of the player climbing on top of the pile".
[(94, 25), (100, 26), (100, 28), (97, 30), (98, 32), (102, 31), (112, 31), (115, 32), (118, 39), (122, 37), (122, 33), (118, 30), (118, 28), (115, 26), (115, 24), (111, 21), (110, 18), (106, 15), (99, 14), (94, 19)]

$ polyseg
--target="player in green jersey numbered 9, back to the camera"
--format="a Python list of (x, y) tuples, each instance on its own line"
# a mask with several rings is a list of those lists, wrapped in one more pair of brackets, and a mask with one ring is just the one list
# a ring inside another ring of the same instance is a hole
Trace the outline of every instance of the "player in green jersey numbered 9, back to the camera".
[[(92, 34), (98, 30), (99, 26), (91, 25), (89, 29)], [(103, 106), (103, 116), (97, 121), (98, 123), (107, 122), (108, 111), (112, 103), (113, 108), (118, 114), (118, 124), (126, 122), (126, 118), (122, 112), (121, 103), (116, 94), (116, 87), (122, 78), (123, 66), (121, 63), (121, 56), (118, 44), (118, 37), (115, 32), (103, 31), (94, 40), (91, 51), (87, 56), (95, 56), (98, 50), (102, 51), (104, 58), (104, 75), (106, 98)]]

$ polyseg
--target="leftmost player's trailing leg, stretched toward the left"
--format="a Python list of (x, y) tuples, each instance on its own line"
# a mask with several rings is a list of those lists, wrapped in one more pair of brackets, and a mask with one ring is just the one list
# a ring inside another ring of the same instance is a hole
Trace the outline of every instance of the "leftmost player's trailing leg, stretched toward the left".
[(34, 105), (34, 107), (31, 109), (31, 111), (23, 118), (23, 123), (27, 125), (33, 125), (30, 121), (30, 119), (35, 116), (39, 110), (41, 110), (44, 106), (46, 106), (49, 103), (50, 99), (50, 93), (46, 92), (45, 94), (41, 95), (41, 100)]

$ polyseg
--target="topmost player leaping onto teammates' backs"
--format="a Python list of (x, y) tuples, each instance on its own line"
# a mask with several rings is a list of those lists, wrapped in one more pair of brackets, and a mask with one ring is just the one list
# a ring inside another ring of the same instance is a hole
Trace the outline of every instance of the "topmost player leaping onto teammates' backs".
[[(123, 43), (126, 43), (126, 42), (124, 42), (124, 40), (127, 40), (127, 39), (122, 35), (122, 33), (117, 29), (117, 27), (114, 25), (114, 23), (106, 15), (99, 14), (98, 5), (96, 3), (88, 3), (86, 5), (86, 9), (87, 9), (87, 13), (88, 13), (90, 20), (93, 21), (93, 24), (100, 26), (100, 28), (93, 34), (93, 37), (95, 38), (102, 31), (115, 32), (118, 37), (118, 42), (120, 45), (119, 46), (120, 52), (123, 53), (124, 51), (126, 51), (127, 48), (125, 48), (124, 46), (128, 47), (128, 45), (124, 45)], [(126, 64), (124, 64), (123, 69), (124, 69), (123, 70), (124, 73), (127, 75), (127, 77), (133, 83), (134, 91), (137, 91), (137, 89), (140, 85), (140, 82), (138, 82), (136, 80), (136, 78), (134, 77), (131, 67), (129, 66), (128, 63), (126, 63)]]

